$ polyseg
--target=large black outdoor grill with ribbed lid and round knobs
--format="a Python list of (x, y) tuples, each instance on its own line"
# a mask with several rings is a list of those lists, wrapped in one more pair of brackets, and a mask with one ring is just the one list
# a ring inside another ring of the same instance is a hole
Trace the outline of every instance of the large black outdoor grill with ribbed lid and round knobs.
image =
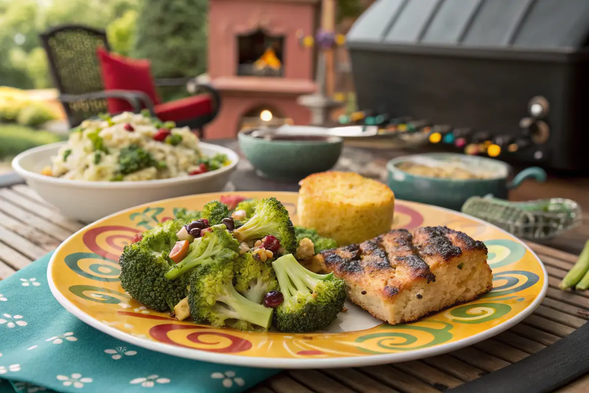
[(449, 150), (589, 169), (589, 1), (378, 0), (347, 44), (360, 109)]

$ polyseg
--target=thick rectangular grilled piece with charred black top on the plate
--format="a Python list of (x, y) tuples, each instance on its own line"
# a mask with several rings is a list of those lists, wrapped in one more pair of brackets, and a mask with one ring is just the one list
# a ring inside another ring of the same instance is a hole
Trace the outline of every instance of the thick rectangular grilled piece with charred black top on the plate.
[(391, 325), (493, 288), (484, 243), (447, 227), (419, 228), (413, 236), (392, 230), (360, 245), (325, 250), (315, 260), (346, 280), (352, 302)]

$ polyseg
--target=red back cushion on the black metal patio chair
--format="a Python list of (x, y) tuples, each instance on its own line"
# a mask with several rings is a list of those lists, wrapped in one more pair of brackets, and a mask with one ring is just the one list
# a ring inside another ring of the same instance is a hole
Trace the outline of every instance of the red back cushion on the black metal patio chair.
[[(151, 76), (151, 63), (144, 59), (130, 59), (104, 48), (97, 49), (105, 90), (138, 90), (147, 94), (154, 105), (160, 103)], [(112, 114), (132, 111), (133, 107), (120, 98), (108, 98), (108, 111)]]

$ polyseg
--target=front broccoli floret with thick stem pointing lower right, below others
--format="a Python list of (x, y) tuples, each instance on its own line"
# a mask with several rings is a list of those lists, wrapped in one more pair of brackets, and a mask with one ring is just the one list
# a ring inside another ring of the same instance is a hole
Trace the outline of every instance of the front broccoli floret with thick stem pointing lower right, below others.
[(233, 288), (233, 263), (218, 262), (200, 265), (190, 276), (188, 290), (190, 315), (197, 323), (233, 326), (251, 330), (250, 325), (263, 329), (272, 323), (271, 308), (254, 303)]

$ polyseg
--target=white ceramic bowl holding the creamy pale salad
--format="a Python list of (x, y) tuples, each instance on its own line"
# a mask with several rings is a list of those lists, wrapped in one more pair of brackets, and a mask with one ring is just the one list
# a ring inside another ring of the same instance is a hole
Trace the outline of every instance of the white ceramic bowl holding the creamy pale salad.
[(222, 153), (231, 164), (196, 176), (144, 181), (82, 181), (44, 176), (41, 170), (65, 142), (31, 148), (12, 160), (12, 168), (27, 184), (65, 216), (85, 223), (138, 204), (178, 196), (223, 190), (237, 167), (239, 156), (229, 148), (200, 143), (207, 156)]

